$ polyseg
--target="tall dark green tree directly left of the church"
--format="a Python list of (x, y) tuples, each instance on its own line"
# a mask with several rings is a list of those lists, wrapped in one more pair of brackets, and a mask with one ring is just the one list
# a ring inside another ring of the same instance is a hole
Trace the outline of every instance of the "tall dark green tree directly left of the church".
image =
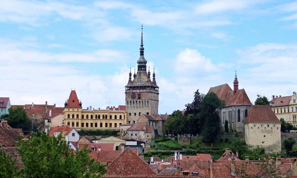
[(206, 94), (199, 106), (198, 118), (203, 125), (203, 141), (211, 143), (211, 146), (220, 132), (220, 117), (217, 111), (220, 107), (224, 107), (224, 102), (214, 92)]

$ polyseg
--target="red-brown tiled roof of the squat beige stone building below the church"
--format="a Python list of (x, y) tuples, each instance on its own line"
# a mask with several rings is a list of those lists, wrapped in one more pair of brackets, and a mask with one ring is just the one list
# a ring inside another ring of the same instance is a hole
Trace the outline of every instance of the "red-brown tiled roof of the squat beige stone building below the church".
[(281, 123), (270, 106), (252, 105), (245, 123)]

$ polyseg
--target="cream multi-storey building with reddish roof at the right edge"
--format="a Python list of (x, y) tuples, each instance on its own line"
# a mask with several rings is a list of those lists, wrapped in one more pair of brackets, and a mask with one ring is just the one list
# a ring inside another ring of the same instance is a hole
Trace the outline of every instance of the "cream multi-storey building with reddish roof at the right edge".
[(272, 96), (271, 109), (278, 119), (283, 118), (286, 122), (297, 127), (297, 95), (293, 92), (290, 96)]

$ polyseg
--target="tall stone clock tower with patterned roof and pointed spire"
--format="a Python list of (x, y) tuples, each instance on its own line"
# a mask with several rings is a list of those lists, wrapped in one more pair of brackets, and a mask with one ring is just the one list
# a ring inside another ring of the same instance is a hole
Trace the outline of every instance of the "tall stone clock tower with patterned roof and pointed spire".
[(150, 79), (149, 67), (147, 72), (147, 60), (144, 56), (143, 28), (141, 28), (141, 45), (139, 49), (140, 57), (137, 60), (137, 74), (134, 70), (132, 80), (130, 68), (128, 84), (125, 87), (127, 124), (137, 123), (137, 120), (143, 114), (158, 114), (159, 87), (155, 80), (154, 70), (152, 81)]

